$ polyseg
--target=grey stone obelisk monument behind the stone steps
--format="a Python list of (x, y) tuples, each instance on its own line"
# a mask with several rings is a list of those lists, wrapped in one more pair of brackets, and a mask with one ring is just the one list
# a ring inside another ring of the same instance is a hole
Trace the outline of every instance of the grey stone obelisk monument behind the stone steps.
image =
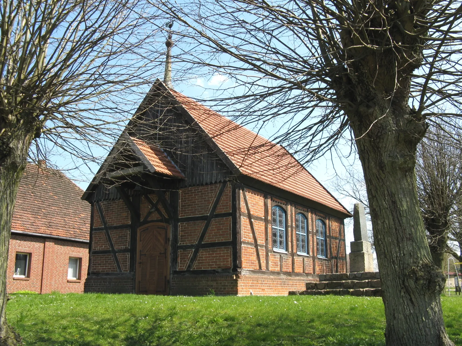
[(371, 243), (367, 235), (366, 213), (361, 203), (354, 204), (353, 235), (354, 241), (350, 243), (350, 272), (374, 271)]

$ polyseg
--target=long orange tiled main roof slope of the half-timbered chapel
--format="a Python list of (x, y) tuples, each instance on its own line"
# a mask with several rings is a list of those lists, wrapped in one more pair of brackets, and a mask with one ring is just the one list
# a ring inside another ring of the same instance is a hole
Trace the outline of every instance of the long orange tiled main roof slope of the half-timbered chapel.
[(350, 215), (284, 147), (170, 89), (242, 174)]

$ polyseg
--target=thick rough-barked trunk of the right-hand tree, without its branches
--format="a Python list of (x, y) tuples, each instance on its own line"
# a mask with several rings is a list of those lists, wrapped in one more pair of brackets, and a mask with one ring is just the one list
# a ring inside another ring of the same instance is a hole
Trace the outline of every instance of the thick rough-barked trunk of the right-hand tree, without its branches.
[(380, 109), (371, 128), (352, 122), (382, 278), (385, 339), (387, 346), (449, 346), (440, 302), (445, 280), (430, 254), (414, 171), (426, 126), (407, 111)]

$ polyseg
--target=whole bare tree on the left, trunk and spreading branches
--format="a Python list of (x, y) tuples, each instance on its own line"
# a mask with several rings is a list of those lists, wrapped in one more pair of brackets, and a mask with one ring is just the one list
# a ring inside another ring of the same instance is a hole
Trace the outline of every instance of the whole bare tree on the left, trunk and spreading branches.
[(18, 342), (5, 317), (6, 261), (28, 155), (54, 147), (94, 159), (92, 143), (113, 141), (136, 98), (128, 91), (149, 82), (155, 66), (149, 8), (140, 0), (1, 2), (0, 345)]

